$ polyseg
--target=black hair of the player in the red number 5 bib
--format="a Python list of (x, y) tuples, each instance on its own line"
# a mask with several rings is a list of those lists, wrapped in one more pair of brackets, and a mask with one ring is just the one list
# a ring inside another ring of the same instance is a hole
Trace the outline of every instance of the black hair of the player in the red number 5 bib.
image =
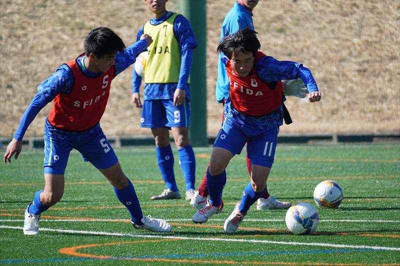
[(93, 53), (99, 58), (106, 54), (122, 52), (125, 49), (121, 38), (107, 27), (92, 29), (84, 38), (83, 46), (86, 54)]

